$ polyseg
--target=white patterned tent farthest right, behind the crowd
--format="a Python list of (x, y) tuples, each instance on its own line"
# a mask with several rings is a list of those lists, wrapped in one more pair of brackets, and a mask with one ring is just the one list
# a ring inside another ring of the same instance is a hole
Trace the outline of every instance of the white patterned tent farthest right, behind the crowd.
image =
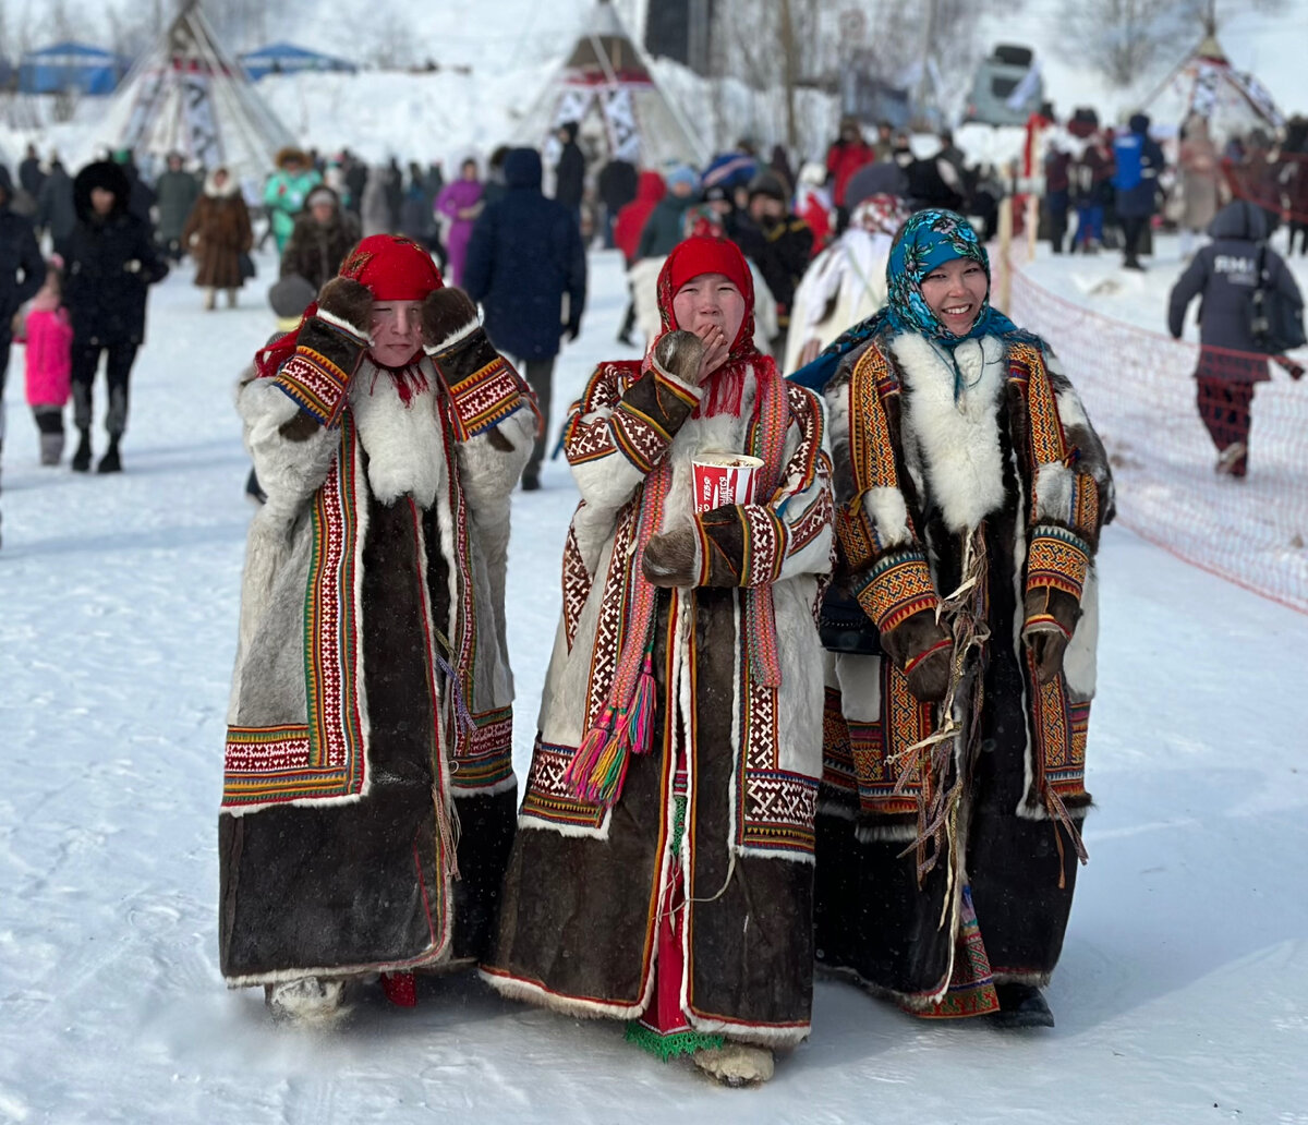
[(1215, 35), (1209, 35), (1144, 105), (1164, 131), (1179, 128), (1190, 114), (1209, 123), (1209, 135), (1222, 145), (1250, 130), (1274, 132), (1283, 119), (1271, 95), (1253, 75), (1231, 67)]

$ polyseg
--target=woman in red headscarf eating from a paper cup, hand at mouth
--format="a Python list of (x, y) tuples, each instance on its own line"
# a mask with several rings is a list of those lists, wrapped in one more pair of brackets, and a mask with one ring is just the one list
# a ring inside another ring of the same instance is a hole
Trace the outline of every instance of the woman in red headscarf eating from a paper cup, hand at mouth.
[[(680, 243), (659, 307), (565, 432), (582, 501), (484, 976), (738, 1084), (808, 1033), (831, 467), (732, 243)], [(757, 459), (752, 497), (697, 510), (723, 454)]]

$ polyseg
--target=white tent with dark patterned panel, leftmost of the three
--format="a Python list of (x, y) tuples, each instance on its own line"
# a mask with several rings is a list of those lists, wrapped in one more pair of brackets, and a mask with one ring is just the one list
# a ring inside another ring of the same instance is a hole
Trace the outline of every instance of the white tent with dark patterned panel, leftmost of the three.
[(293, 143), (218, 43), (199, 0), (183, 5), (132, 68), (97, 140), (131, 149), (143, 169), (179, 152), (204, 169), (221, 165), (247, 184), (260, 183), (277, 149)]

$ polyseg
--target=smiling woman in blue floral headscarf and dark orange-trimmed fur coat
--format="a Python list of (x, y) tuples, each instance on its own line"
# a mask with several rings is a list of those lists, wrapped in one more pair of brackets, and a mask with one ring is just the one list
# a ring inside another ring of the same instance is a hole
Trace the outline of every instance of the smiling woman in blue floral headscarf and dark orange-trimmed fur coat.
[(1052, 1024), (1084, 858), (1103, 447), (1049, 348), (990, 307), (967, 220), (900, 230), (888, 303), (798, 378), (832, 417), (819, 960), (925, 1016)]

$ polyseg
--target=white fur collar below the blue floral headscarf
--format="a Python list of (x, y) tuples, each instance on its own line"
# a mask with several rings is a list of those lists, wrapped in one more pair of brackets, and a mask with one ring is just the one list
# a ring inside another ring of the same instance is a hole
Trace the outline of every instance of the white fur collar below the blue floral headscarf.
[(940, 509), (951, 531), (968, 531), (1003, 506), (999, 411), (1007, 349), (995, 336), (955, 349), (963, 390), (954, 398), (948, 353), (905, 332), (891, 341), (904, 378), (904, 450), (909, 471)]

